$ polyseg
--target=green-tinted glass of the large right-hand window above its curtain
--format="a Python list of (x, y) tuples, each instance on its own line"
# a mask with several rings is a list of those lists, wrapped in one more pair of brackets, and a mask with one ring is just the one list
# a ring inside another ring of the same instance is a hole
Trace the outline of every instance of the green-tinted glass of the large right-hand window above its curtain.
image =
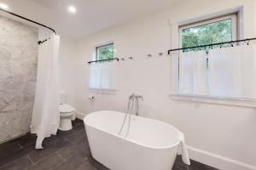
[[(220, 20), (210, 24), (182, 30), (182, 47), (194, 47), (232, 41), (232, 20)], [(228, 44), (229, 46), (229, 44)]]

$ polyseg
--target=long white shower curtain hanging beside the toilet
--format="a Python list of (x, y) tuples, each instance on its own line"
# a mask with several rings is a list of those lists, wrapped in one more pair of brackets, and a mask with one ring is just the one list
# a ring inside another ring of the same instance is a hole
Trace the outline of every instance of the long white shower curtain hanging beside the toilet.
[(31, 133), (38, 135), (36, 149), (43, 149), (44, 138), (56, 134), (60, 122), (58, 52), (60, 37), (52, 35), (39, 46), (36, 97)]

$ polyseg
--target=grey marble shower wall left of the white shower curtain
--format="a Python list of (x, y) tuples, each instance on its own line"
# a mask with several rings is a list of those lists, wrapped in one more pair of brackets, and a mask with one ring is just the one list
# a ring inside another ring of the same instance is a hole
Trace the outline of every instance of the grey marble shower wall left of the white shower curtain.
[(0, 143), (30, 130), (38, 30), (0, 16)]

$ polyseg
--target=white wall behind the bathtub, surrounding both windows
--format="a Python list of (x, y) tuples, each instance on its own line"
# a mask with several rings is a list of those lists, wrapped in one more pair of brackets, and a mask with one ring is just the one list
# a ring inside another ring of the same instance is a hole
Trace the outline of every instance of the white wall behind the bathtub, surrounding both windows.
[[(75, 66), (75, 107), (91, 111), (124, 111), (128, 95), (142, 94), (140, 114), (169, 122), (185, 133), (192, 159), (221, 169), (256, 169), (256, 110), (232, 105), (178, 101), (171, 90), (170, 23), (244, 6), (245, 37), (255, 37), (253, 0), (195, 0), (166, 8), (157, 14), (131, 21), (85, 37), (78, 44)], [(113, 41), (119, 62), (119, 89), (115, 94), (93, 93), (88, 89), (88, 66), (96, 44)], [(164, 52), (163, 57), (156, 57)], [(153, 54), (147, 59), (147, 54)], [(91, 102), (88, 96), (96, 100)], [(251, 167), (250, 167), (251, 166)]]

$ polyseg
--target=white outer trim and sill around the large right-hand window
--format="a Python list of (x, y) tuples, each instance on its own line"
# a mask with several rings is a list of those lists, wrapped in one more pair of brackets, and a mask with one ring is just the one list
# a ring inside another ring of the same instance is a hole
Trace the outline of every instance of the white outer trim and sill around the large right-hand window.
[[(236, 15), (236, 31), (237, 39), (244, 39), (244, 8), (239, 6), (237, 8), (227, 8), (216, 13), (205, 14), (197, 16), (194, 18), (189, 18), (188, 20), (179, 20), (177, 23), (172, 23), (169, 21), (169, 26), (171, 27), (171, 48), (181, 48), (182, 43), (180, 43), (180, 28), (184, 26), (192, 26), (195, 24), (200, 25), (203, 21), (220, 19), (224, 16), (230, 16), (232, 14)], [(234, 31), (233, 31), (234, 32)], [(178, 94), (178, 56), (179, 53), (172, 52), (172, 84), (169, 95), (172, 99), (180, 101), (193, 101), (198, 103), (207, 103), (215, 105), (237, 105), (242, 107), (256, 107), (255, 101), (251, 99), (230, 99), (230, 98), (221, 98), (217, 96), (202, 96), (202, 95), (189, 95), (189, 94)]]

